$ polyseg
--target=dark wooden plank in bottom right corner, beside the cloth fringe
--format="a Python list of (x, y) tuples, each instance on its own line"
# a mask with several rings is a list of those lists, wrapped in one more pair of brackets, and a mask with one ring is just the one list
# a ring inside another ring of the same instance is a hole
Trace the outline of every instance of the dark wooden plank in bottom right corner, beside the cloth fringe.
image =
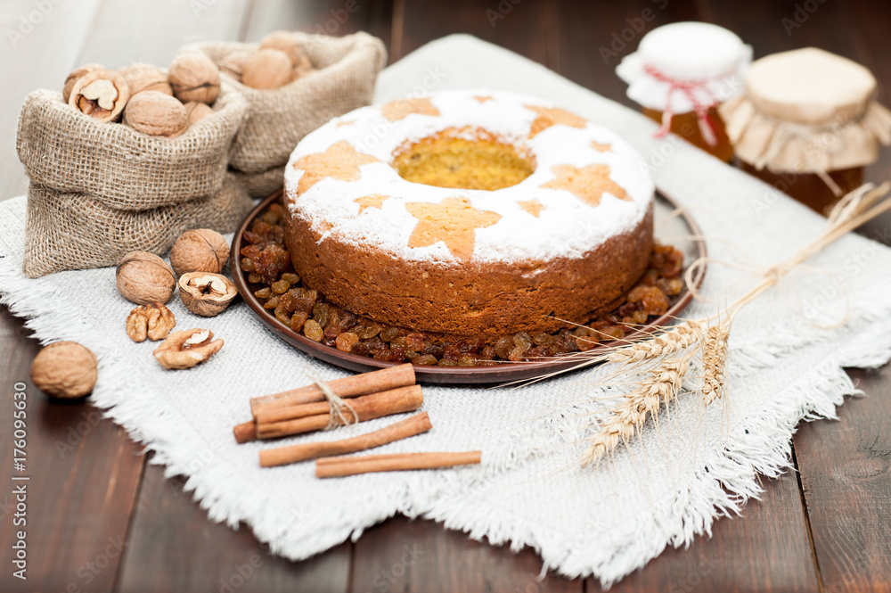
[(849, 373), (867, 397), (799, 429), (798, 471), (826, 590), (891, 591), (891, 367)]

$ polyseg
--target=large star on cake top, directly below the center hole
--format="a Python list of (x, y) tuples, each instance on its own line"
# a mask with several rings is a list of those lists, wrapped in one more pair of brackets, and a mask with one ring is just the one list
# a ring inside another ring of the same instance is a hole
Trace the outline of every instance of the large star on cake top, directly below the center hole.
[(501, 215), (489, 210), (477, 210), (467, 198), (446, 198), (438, 204), (410, 202), (405, 204), (417, 226), (408, 238), (408, 246), (429, 247), (440, 241), (458, 259), (470, 259), (476, 243), (476, 229), (492, 226)]

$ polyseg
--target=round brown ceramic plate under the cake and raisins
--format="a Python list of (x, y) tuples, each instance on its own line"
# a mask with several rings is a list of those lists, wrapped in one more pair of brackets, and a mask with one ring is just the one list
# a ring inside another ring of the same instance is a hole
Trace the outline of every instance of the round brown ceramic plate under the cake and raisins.
[[(243, 246), (241, 235), (250, 227), (254, 218), (257, 218), (263, 210), (266, 210), (269, 204), (274, 200), (280, 199), (281, 195), (282, 193), (278, 192), (269, 196), (263, 202), (260, 202), (257, 205), (257, 208), (250, 212), (248, 218), (245, 218), (244, 222), (241, 223), (238, 232), (235, 233), (235, 237), (233, 238), (233, 257), (230, 259), (229, 266), (235, 285), (238, 286), (238, 292), (241, 293), (241, 297), (248, 303), (250, 309), (253, 309), (257, 316), (278, 334), (282, 340), (297, 347), (298, 350), (303, 350), (312, 357), (324, 360), (337, 367), (360, 373), (384, 367), (392, 367), (398, 364), (394, 362), (383, 362), (349, 352), (342, 352), (332, 346), (325, 346), (322, 343), (313, 342), (307, 338), (307, 336), (298, 334), (290, 329), (288, 325), (282, 324), (282, 322), (276, 319), (273, 313), (268, 309), (263, 309), (263, 305), (257, 300), (253, 292), (250, 291), (247, 279), (242, 275), (238, 265), (241, 260), (241, 258), (238, 257), (238, 253), (241, 252), (241, 247)], [(677, 202), (674, 202), (674, 200), (667, 195), (657, 192), (656, 202), (654, 204), (655, 226), (657, 229), (656, 237), (661, 243), (672, 244), (677, 249), (683, 251), (685, 261), (689, 263), (694, 259), (706, 255), (706, 243), (699, 238), (701, 237), (699, 226), (693, 222), (693, 219), (690, 218), (686, 211), (681, 210), (680, 214), (677, 214), (674, 217), (671, 216), (672, 212), (676, 210), (677, 207)], [(688, 237), (695, 237), (695, 240), (690, 240)], [(693, 282), (697, 288), (702, 284), (702, 279), (705, 276), (705, 273), (705, 267), (699, 268), (699, 273), (693, 278)], [(675, 317), (681, 315), (683, 309), (686, 309), (692, 300), (693, 295), (688, 288), (681, 293), (676, 301), (674, 301), (674, 305), (668, 309), (665, 315), (658, 317), (658, 319), (646, 325), (646, 327), (639, 332), (628, 334), (626, 338), (634, 338), (652, 327), (670, 324)], [(596, 349), (589, 350), (588, 353), (595, 351)], [(574, 352), (565, 354), (559, 358), (549, 358), (540, 362), (504, 363), (495, 367), (418, 366), (414, 367), (414, 372), (418, 377), (418, 381), (424, 383), (504, 383), (567, 370), (571, 367), (575, 367), (582, 360), (584, 360), (584, 358), (580, 357), (578, 352)]]

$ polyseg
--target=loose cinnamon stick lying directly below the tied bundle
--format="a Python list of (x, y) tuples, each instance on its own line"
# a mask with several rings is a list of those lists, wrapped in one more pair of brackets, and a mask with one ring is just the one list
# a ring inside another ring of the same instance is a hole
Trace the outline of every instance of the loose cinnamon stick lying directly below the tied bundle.
[(331, 442), (311, 442), (278, 449), (260, 451), (260, 467), (274, 467), (307, 461), (316, 457), (330, 457), (355, 453), (365, 449), (373, 449), (394, 441), (407, 439), (415, 434), (427, 432), (432, 428), (427, 412), (416, 414), (396, 424), (390, 424), (379, 431), (369, 432), (352, 439)]

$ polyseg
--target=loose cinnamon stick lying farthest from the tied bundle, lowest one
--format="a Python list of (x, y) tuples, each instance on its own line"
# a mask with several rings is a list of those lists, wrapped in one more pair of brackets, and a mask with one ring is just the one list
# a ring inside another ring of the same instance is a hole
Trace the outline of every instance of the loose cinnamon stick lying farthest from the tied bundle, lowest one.
[(482, 451), (461, 453), (396, 453), (365, 457), (323, 457), (315, 460), (315, 477), (335, 478), (371, 472), (398, 472), (478, 464)]

